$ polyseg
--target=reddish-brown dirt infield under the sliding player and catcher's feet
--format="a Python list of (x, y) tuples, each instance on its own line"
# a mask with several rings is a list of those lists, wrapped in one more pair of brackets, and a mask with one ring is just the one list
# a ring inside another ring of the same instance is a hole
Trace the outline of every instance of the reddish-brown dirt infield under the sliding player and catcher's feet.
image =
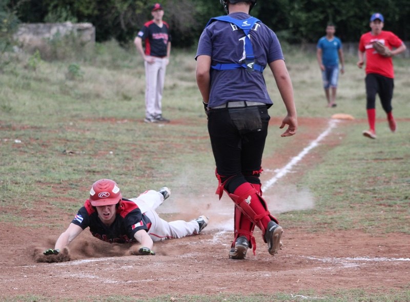
[[(264, 166), (282, 167), (314, 140), (328, 122), (326, 119), (301, 120), (300, 123), (310, 127), (310, 135), (298, 138), (294, 148), (288, 146), (288, 153), (265, 158)], [(322, 144), (332, 148), (339, 142), (340, 139), (328, 137)], [(315, 164), (315, 158), (319, 160), (316, 156), (310, 157), (309, 162), (301, 159), (301, 163), (309, 167)], [(272, 174), (264, 173), (265, 179)], [(32, 294), (50, 299), (93, 300), (107, 296), (144, 299), (166, 294), (175, 297), (277, 292), (295, 295), (308, 289), (315, 289), (324, 297), (331, 288), (383, 292), (403, 289), (410, 284), (408, 235), (403, 234), (311, 233), (290, 228), (285, 229), (282, 250), (273, 257), (268, 254), (260, 231), (255, 230), (256, 256), (248, 251), (245, 260), (228, 259), (233, 237), (233, 204), (227, 198), (218, 201), (212, 193), (198, 197), (208, 202), (199, 200), (204, 206), (195, 207), (192, 213), (166, 214), (168, 220), (191, 219), (198, 211), (207, 211), (200, 214), (207, 214), (210, 224), (200, 235), (155, 243), (155, 256), (130, 256), (129, 246), (100, 241), (86, 231), (70, 245), (64, 259), (70, 261), (48, 263), (42, 252), (54, 246), (63, 229), (30, 228), (29, 225), (17, 228), (2, 222), (0, 297)], [(169, 202), (173, 202), (172, 197)], [(36, 210), (22, 215), (41, 216), (40, 209), (39, 204)], [(275, 215), (286, 211), (274, 203), (270, 203), (270, 209)], [(64, 214), (62, 224), (68, 224), (70, 219), (71, 213)]]

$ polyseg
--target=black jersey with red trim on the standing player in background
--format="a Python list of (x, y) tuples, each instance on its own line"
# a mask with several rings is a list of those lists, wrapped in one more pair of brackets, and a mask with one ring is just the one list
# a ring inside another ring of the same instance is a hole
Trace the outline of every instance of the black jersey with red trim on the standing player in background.
[(159, 27), (154, 21), (148, 21), (138, 32), (145, 42), (145, 54), (152, 56), (167, 56), (168, 43), (171, 42), (170, 27), (167, 22), (162, 21)]

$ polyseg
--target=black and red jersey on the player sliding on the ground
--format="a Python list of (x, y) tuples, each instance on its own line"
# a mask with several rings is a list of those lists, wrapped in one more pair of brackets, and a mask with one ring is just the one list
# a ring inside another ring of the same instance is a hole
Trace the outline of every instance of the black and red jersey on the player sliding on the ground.
[(94, 237), (110, 243), (136, 242), (134, 234), (139, 230), (148, 232), (151, 227), (151, 220), (142, 214), (139, 207), (131, 200), (122, 198), (115, 215), (114, 222), (110, 226), (105, 225), (87, 199), (71, 223), (80, 226), (83, 230), (89, 227)]

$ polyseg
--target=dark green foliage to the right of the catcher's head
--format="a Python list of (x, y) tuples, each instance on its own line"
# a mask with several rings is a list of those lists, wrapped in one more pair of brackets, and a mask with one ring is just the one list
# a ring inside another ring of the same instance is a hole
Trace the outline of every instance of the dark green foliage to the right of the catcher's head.
[(369, 18), (374, 12), (385, 17), (385, 29), (395, 32), (402, 40), (410, 38), (410, 13), (405, 0), (276, 0), (259, 1), (255, 7), (258, 17), (279, 37), (290, 43), (316, 42), (324, 35), (326, 24), (336, 25), (336, 34), (342, 41), (356, 42), (370, 30)]

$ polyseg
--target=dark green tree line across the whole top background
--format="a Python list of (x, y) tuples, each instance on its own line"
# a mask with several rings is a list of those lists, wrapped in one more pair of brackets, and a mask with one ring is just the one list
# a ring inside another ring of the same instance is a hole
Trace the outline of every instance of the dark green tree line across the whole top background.
[[(195, 47), (209, 18), (224, 14), (219, 0), (0, 0), (0, 26), (10, 15), (14, 22), (89, 22), (95, 26), (96, 40), (115, 39), (122, 45), (133, 41), (138, 30), (151, 20), (150, 7), (160, 2), (164, 20), (170, 24), (173, 46)], [(381, 12), (385, 30), (408, 41), (409, 0), (257, 0), (252, 14), (272, 28), (281, 42), (316, 43), (327, 23), (336, 25), (343, 42), (358, 42), (368, 30), (369, 18)], [(2, 21), (2, 20), (0, 20)]]

